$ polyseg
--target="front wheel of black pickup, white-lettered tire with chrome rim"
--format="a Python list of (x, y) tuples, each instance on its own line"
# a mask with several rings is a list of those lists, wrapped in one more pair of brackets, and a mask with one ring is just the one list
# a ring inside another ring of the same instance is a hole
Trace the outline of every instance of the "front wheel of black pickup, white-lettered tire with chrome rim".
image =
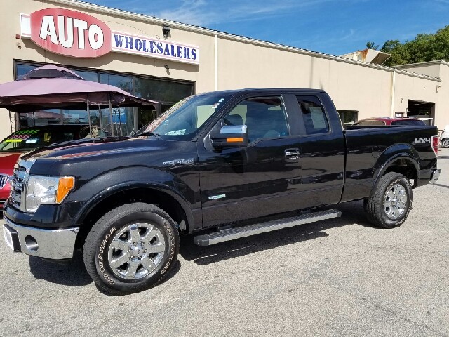
[(135, 293), (156, 285), (173, 266), (179, 234), (166, 212), (152, 204), (119, 206), (86, 237), (86, 269), (105, 293)]

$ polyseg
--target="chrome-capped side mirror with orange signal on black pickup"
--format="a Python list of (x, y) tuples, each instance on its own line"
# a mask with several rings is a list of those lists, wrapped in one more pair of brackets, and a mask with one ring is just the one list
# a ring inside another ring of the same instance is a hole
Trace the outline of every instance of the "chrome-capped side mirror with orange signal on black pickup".
[(213, 129), (210, 132), (213, 147), (246, 147), (248, 146), (248, 126), (231, 125)]

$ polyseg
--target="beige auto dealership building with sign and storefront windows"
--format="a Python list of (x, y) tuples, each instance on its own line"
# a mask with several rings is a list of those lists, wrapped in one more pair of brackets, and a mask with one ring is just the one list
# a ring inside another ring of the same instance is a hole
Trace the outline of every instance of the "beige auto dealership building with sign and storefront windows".
[[(449, 124), (448, 62), (384, 67), (376, 58), (316, 53), (74, 0), (8, 0), (0, 10), (0, 83), (55, 63), (161, 103), (114, 111), (124, 133), (187, 95), (262, 87), (321, 88), (345, 123), (403, 115), (427, 117), (438, 129)], [(20, 119), (0, 111), (2, 138), (20, 126), (87, 123), (79, 111)]]

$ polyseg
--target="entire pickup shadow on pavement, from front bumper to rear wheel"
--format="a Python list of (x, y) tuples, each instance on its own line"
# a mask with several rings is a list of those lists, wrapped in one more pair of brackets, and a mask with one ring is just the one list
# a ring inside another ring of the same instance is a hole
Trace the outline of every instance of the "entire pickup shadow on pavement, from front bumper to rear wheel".
[[(328, 237), (324, 232), (331, 228), (347, 225), (361, 225), (373, 227), (366, 220), (363, 213), (363, 202), (355, 201), (334, 207), (342, 211), (341, 218), (321, 221), (318, 223), (304, 224), (297, 227), (286, 228), (274, 232), (258, 234), (253, 237), (245, 237), (230, 242), (223, 242), (213, 246), (200, 247), (193, 242), (193, 236), (181, 238), (180, 255), (185, 260), (194, 261), (197, 265), (209, 265), (222, 260), (238, 258), (259, 251), (275, 249), (278, 246), (297, 244), (312, 239)], [(168, 275), (161, 283), (168, 281), (179, 272), (181, 264), (176, 260)], [(65, 286), (86, 286), (92, 279), (84, 267), (83, 256), (76, 251), (74, 258), (69, 263), (59, 264), (29, 256), (29, 269), (36, 279), (44, 279), (55, 284)]]

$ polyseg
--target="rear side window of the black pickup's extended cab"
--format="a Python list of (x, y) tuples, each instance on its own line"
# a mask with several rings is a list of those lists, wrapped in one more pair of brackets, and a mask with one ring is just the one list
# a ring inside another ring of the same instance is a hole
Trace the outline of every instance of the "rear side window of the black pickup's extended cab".
[(307, 135), (329, 132), (329, 121), (323, 105), (314, 96), (297, 96)]

